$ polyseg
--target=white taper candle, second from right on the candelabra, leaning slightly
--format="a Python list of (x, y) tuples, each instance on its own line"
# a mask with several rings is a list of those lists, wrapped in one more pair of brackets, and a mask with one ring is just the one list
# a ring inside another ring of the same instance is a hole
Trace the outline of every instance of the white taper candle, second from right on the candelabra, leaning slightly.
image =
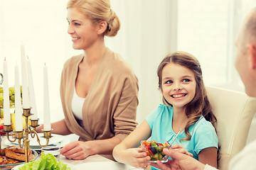
[(29, 94), (30, 104), (31, 104), (31, 113), (33, 113), (33, 115), (31, 115), (31, 120), (36, 120), (38, 119), (37, 109), (36, 109), (36, 97), (35, 97), (35, 90), (33, 87), (31, 61), (29, 60), (29, 58), (28, 60), (26, 60), (26, 64), (28, 69), (28, 94)]

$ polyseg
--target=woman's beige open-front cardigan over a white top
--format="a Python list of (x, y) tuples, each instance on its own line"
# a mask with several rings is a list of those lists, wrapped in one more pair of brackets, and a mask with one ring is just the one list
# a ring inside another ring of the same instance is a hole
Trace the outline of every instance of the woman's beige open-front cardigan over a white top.
[(68, 129), (80, 140), (123, 140), (137, 126), (138, 79), (122, 57), (107, 49), (100, 60), (85, 103), (82, 106), (83, 129), (71, 111), (71, 100), (84, 55), (65, 62), (60, 82), (60, 98)]

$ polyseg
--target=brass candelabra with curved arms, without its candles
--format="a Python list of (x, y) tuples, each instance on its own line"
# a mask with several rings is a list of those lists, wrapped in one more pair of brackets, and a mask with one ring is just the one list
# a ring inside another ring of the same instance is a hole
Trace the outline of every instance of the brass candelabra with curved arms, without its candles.
[[(28, 127), (28, 117), (33, 115), (31, 113), (31, 108), (23, 108), (23, 115), (25, 116), (25, 129), (21, 131), (14, 131), (15, 134), (15, 139), (11, 140), (9, 138), (9, 132), (12, 132), (13, 130), (11, 129), (11, 125), (4, 125), (4, 130), (1, 130), (2, 132), (6, 132), (6, 137), (10, 142), (15, 142), (18, 140), (18, 145), (21, 148), (25, 148), (25, 156), (26, 156), (26, 163), (29, 162), (29, 141), (28, 140), (28, 135), (30, 134), (32, 138), (37, 137), (37, 142), (40, 145), (40, 147), (47, 147), (49, 143), (49, 139), (51, 136), (51, 130), (43, 130), (43, 137), (46, 138), (46, 145), (42, 146), (38, 137), (38, 133), (36, 132), (36, 127), (38, 127), (38, 119), (36, 120), (31, 120), (31, 125)], [(23, 140), (23, 143), (21, 145), (21, 140)]]

